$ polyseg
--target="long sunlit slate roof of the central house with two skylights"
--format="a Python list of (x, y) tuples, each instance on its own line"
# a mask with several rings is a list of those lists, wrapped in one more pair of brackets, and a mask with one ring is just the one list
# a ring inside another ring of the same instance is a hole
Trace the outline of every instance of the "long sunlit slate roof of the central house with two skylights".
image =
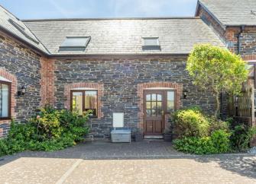
[[(198, 17), (24, 21), (53, 55), (188, 54), (197, 43), (225, 45)], [(58, 52), (66, 36), (91, 36), (86, 52)], [(142, 37), (159, 37), (161, 50), (143, 51)]]

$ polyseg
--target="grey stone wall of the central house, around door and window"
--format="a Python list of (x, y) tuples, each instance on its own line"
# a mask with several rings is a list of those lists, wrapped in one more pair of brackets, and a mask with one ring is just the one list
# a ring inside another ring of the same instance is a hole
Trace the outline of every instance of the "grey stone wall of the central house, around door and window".
[[(98, 119), (91, 119), (91, 134), (96, 137), (109, 135), (112, 128), (112, 113), (125, 113), (125, 126), (138, 127), (140, 84), (159, 82), (173, 83), (189, 91), (186, 100), (181, 91), (180, 106), (202, 106), (209, 113), (213, 113), (214, 98), (209, 92), (198, 90), (191, 83), (185, 67), (186, 58), (170, 59), (56, 59), (55, 81), (56, 87), (54, 106), (68, 107), (66, 87), (73, 84), (99, 84), (103, 87), (99, 106), (102, 113)], [(86, 87), (88, 87), (86, 85)], [(179, 88), (181, 89), (181, 88)]]

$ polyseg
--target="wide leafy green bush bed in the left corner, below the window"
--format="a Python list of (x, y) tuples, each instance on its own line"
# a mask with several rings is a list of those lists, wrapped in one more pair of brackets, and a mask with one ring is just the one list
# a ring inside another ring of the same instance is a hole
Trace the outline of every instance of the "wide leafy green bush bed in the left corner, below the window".
[(21, 124), (11, 122), (7, 138), (0, 139), (0, 155), (16, 152), (56, 151), (83, 141), (89, 132), (85, 123), (89, 113), (82, 116), (70, 110), (51, 107)]

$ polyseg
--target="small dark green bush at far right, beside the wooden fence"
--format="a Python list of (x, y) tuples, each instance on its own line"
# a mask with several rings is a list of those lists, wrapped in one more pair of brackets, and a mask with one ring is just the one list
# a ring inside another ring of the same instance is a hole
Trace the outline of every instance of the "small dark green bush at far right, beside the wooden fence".
[(251, 138), (256, 135), (256, 128), (248, 128), (245, 125), (237, 125), (230, 137), (232, 148), (235, 151), (245, 151), (249, 148)]

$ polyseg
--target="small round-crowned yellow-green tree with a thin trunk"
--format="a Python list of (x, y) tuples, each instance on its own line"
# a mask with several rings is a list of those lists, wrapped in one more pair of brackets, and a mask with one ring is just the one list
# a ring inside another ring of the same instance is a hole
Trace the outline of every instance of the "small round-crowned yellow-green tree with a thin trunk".
[(209, 44), (197, 45), (189, 56), (186, 70), (193, 84), (212, 90), (215, 96), (215, 117), (219, 115), (219, 94), (239, 94), (241, 84), (248, 78), (248, 70), (241, 56), (228, 49)]

